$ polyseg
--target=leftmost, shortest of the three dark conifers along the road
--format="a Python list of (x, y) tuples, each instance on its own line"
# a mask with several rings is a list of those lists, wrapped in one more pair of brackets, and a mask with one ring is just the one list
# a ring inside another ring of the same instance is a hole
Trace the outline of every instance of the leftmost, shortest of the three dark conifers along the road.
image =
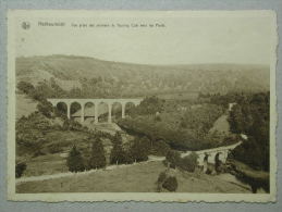
[(66, 159), (66, 165), (71, 172), (82, 172), (85, 170), (82, 153), (74, 145)]

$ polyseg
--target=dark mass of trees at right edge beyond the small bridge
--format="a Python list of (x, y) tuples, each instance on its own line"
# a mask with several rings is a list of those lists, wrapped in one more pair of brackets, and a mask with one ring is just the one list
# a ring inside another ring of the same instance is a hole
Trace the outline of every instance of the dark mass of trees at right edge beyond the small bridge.
[(249, 95), (233, 107), (231, 130), (248, 139), (232, 151), (235, 160), (269, 171), (269, 92)]

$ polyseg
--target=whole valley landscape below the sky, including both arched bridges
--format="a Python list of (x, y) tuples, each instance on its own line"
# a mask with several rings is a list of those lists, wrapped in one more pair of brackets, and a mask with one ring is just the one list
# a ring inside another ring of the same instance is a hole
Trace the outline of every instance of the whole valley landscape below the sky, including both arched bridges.
[(176, 192), (268, 191), (266, 66), (50, 55), (16, 76), (17, 192), (172, 191), (162, 173)]

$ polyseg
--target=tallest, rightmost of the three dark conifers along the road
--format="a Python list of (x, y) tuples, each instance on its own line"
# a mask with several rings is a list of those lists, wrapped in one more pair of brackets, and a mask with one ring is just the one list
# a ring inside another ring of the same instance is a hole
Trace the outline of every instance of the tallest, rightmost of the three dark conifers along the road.
[(122, 137), (119, 132), (115, 133), (112, 144), (113, 144), (113, 148), (110, 155), (111, 164), (125, 163), (126, 157), (122, 147)]

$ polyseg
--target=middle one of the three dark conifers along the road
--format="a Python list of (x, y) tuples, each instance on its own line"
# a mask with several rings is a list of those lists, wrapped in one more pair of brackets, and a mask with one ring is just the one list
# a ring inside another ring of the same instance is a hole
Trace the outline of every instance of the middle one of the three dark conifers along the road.
[(93, 142), (88, 166), (89, 169), (99, 169), (99, 167), (106, 166), (105, 150), (103, 150), (102, 141), (99, 138), (97, 138)]

